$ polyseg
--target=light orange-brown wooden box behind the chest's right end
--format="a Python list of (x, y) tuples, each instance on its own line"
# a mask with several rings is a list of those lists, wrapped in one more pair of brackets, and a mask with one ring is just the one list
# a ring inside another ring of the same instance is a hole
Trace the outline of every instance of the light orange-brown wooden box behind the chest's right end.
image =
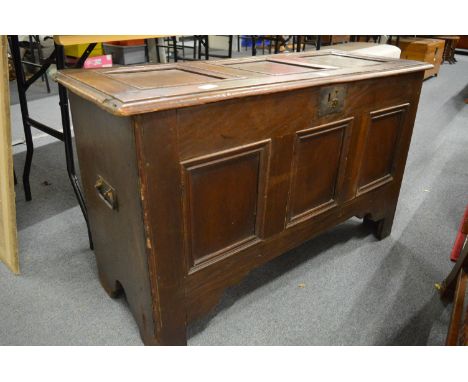
[(424, 61), (434, 65), (426, 70), (424, 79), (437, 76), (444, 56), (444, 40), (434, 38), (405, 37), (400, 38), (398, 46), (401, 49), (401, 58), (405, 60)]

